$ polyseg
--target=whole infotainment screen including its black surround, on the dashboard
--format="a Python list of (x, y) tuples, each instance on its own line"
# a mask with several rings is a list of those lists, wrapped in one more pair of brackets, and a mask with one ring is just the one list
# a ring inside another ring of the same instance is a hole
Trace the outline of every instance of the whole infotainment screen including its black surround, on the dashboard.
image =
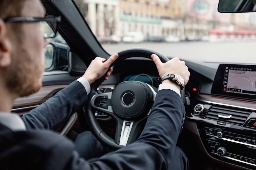
[(256, 100), (256, 65), (220, 64), (212, 94)]

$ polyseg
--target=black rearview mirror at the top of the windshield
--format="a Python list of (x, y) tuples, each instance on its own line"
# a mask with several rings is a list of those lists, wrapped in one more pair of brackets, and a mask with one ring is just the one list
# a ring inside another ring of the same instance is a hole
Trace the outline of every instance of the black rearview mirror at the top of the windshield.
[(256, 0), (220, 0), (218, 11), (222, 13), (239, 13), (256, 11)]

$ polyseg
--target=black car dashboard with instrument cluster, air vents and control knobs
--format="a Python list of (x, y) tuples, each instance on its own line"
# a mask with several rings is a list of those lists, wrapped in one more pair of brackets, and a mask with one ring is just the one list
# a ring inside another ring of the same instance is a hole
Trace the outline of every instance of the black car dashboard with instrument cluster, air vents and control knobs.
[[(136, 80), (158, 87), (161, 78), (154, 63), (144, 58), (135, 60), (127, 59), (114, 66), (112, 74), (118, 77), (117, 83)], [(185, 86), (185, 97), (190, 102), (185, 103), (186, 119), (177, 145), (188, 156), (192, 168), (255, 169), (256, 74), (253, 72), (255, 79), (251, 80), (254, 89), (245, 95), (239, 94), (243, 89), (238, 92), (239, 88), (232, 85), (236, 81), (237, 85), (245, 84), (241, 74), (237, 74), (240, 79), (229, 77), (232, 77), (233, 68), (253, 68), (256, 71), (256, 66), (221, 64), (220, 69), (218, 63), (185, 62), (191, 73)], [(230, 71), (229, 76), (226, 70)], [(248, 83), (251, 81), (247, 80)]]

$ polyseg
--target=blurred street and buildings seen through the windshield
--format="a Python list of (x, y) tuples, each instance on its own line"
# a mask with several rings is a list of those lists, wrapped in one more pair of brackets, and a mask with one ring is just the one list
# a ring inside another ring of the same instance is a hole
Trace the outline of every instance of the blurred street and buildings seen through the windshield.
[(219, 0), (74, 0), (113, 54), (150, 48), (203, 62), (256, 63), (256, 13), (219, 13)]

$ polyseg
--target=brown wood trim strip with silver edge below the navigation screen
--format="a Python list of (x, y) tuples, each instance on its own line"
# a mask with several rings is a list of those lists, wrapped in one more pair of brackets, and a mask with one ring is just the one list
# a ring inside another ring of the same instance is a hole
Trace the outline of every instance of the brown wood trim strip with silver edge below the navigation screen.
[(208, 95), (208, 94), (199, 94), (198, 99), (215, 102), (215, 103), (226, 104), (226, 105), (256, 109), (256, 101), (254, 100), (234, 99), (229, 97), (221, 97), (221, 96)]

